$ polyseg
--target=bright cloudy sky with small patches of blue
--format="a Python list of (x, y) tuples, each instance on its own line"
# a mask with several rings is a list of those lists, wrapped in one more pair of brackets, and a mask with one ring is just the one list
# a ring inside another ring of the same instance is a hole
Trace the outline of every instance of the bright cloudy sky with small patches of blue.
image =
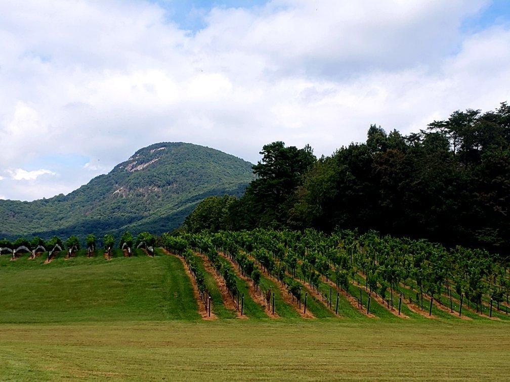
[(510, 101), (503, 0), (3, 0), (0, 198), (68, 194), (139, 148), (330, 155)]

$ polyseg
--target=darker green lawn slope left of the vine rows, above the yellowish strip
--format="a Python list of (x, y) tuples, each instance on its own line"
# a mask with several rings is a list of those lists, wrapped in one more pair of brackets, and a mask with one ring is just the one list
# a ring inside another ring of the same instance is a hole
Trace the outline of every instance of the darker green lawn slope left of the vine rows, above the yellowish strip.
[(1, 256), (0, 322), (199, 319), (179, 259), (116, 255)]

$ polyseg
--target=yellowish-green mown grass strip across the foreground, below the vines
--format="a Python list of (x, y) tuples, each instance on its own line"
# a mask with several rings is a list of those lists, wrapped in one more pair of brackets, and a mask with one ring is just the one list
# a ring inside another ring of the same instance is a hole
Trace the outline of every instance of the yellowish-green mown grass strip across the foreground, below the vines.
[(504, 380), (501, 322), (0, 325), (0, 379)]

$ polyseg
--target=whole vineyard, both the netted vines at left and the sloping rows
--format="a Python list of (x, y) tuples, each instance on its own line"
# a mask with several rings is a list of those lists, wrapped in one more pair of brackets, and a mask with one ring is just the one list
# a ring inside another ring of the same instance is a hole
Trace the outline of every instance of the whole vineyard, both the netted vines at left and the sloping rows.
[(3, 240), (1, 251), (11, 261), (2, 265), (16, 268), (12, 261), (23, 253), (43, 259), (42, 265), (82, 255), (173, 256), (203, 319), (510, 319), (508, 263), (482, 250), (315, 230), (144, 232), (136, 238), (125, 232), (116, 241), (105, 235), (98, 250), (94, 235), (84, 249), (76, 236)]

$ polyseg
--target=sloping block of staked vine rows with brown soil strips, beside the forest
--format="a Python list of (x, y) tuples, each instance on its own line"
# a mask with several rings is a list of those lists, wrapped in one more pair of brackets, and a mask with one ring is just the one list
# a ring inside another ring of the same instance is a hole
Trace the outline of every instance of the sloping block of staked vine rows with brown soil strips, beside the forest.
[(509, 319), (508, 264), (481, 250), (313, 230), (164, 234), (161, 242), (186, 259), (204, 304), (210, 294), (197, 259), (221, 276), (241, 314), (259, 293), (268, 317), (290, 316), (287, 305), (308, 318)]

